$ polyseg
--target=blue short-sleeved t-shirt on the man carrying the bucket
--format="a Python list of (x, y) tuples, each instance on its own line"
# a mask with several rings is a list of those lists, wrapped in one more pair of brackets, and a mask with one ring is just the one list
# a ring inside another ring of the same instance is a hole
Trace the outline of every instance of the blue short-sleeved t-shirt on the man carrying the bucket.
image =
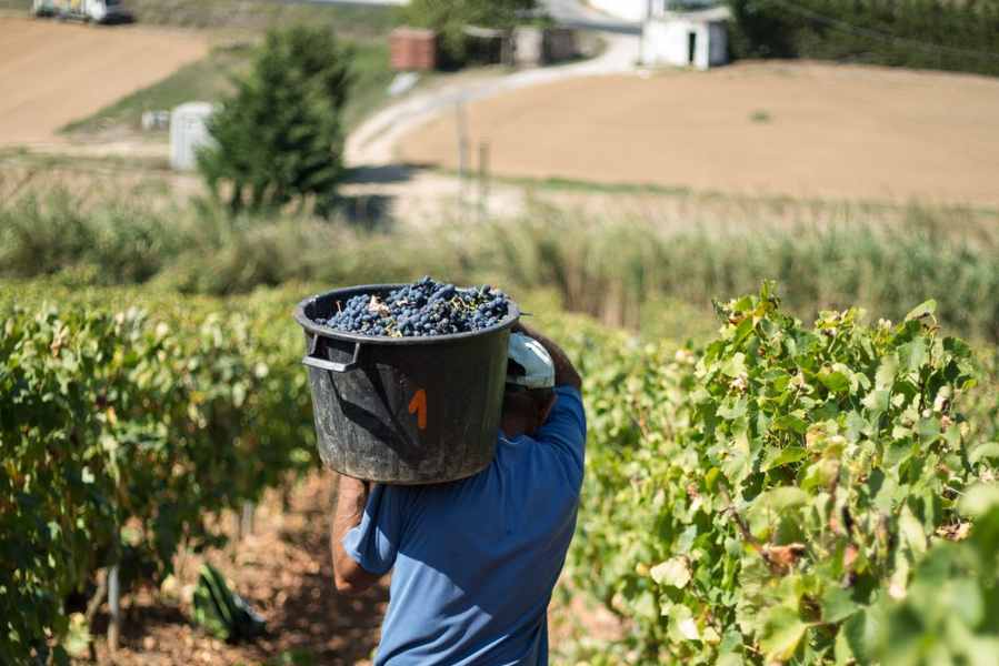
[(500, 434), (482, 472), (429, 486), (376, 485), (343, 547), (394, 567), (376, 666), (548, 663), (548, 602), (576, 528), (586, 415), (560, 386), (533, 437)]

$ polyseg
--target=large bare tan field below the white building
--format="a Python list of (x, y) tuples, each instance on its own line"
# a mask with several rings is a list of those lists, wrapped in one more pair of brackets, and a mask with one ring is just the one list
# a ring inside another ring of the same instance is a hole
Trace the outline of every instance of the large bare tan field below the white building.
[[(999, 203), (999, 80), (982, 77), (743, 63), (569, 80), (473, 103), (468, 118), (502, 175)], [(456, 168), (454, 114), (399, 151)]]

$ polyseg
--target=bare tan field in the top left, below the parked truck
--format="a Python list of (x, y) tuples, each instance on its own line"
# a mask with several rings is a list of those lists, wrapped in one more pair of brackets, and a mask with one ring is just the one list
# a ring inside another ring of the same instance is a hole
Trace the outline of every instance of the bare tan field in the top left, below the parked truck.
[(66, 123), (208, 52), (204, 36), (0, 18), (0, 144), (51, 142)]

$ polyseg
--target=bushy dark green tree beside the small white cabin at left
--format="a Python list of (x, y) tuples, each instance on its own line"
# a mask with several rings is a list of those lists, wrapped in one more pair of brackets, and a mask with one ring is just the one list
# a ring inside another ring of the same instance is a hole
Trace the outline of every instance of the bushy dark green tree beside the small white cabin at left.
[(250, 72), (209, 122), (214, 143), (198, 167), (233, 213), (313, 195), (332, 200), (342, 179), (340, 120), (351, 52), (322, 28), (272, 30)]

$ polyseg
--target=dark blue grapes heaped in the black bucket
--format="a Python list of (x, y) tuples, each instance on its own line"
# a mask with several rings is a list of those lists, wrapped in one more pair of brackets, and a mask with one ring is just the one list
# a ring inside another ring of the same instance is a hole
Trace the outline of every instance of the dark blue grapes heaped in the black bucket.
[(360, 294), (338, 303), (338, 312), (316, 323), (338, 331), (389, 337), (422, 337), (481, 331), (510, 312), (507, 295), (489, 285), (457, 287), (429, 276), (379, 297)]

